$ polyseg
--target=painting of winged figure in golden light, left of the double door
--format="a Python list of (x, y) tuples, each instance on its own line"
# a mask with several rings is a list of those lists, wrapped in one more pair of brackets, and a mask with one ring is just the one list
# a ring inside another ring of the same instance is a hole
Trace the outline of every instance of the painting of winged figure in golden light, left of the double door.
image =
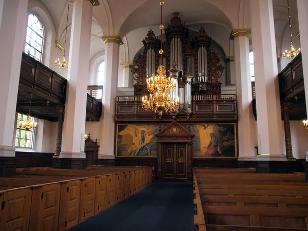
[(157, 157), (157, 137), (161, 125), (118, 124), (117, 157)]

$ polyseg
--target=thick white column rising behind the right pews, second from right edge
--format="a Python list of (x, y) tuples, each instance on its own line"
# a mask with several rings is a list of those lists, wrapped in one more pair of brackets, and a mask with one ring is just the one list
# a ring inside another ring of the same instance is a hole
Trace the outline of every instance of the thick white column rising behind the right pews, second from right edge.
[(249, 0), (255, 63), (258, 160), (286, 160), (282, 122), (272, 0)]

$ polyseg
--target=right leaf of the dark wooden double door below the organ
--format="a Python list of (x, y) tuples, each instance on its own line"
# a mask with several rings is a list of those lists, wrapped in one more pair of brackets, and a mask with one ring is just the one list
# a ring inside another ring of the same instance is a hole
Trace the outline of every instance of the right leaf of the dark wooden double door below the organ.
[(176, 144), (176, 178), (186, 178), (186, 144)]

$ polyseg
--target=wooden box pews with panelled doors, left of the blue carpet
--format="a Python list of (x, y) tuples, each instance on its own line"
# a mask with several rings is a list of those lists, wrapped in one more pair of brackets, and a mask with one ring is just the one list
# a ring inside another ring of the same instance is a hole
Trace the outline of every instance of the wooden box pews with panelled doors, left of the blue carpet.
[(148, 167), (18, 169), (0, 178), (1, 230), (68, 230), (151, 184)]

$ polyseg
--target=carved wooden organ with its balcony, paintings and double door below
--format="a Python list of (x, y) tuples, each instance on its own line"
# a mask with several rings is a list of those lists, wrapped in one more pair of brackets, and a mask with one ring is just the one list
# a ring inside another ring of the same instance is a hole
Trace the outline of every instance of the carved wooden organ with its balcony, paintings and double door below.
[(160, 39), (150, 30), (134, 58), (134, 92), (115, 100), (115, 165), (152, 166), (157, 180), (191, 181), (192, 167), (237, 167), (237, 98), (221, 94), (224, 67), (206, 31), (188, 31), (178, 14), (170, 23), (162, 63), (177, 80), (170, 94), (180, 107), (155, 113), (142, 106), (147, 76), (160, 65)]

